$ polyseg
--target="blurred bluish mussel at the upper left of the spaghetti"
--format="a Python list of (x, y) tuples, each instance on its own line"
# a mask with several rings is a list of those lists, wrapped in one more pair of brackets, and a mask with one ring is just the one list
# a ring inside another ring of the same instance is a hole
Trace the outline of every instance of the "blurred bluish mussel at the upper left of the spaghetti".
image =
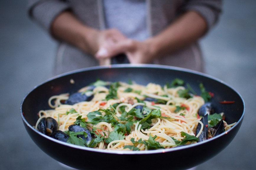
[(94, 95), (92, 93), (77, 92), (69, 96), (64, 104), (73, 105), (78, 102), (91, 101)]

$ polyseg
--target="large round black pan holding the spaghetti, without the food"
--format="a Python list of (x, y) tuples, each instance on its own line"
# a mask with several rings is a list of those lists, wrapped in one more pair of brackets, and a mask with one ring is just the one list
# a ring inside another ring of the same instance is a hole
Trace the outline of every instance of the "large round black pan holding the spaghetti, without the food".
[[(193, 145), (154, 151), (125, 152), (97, 150), (63, 143), (39, 133), (32, 127), (38, 119), (38, 111), (50, 109), (48, 99), (51, 96), (67, 92), (74, 93), (96, 79), (112, 82), (133, 80), (144, 85), (153, 82), (163, 86), (175, 78), (189, 83), (198, 94), (200, 94), (199, 83), (202, 82), (207, 91), (214, 93), (211, 102), (216, 112), (224, 112), (225, 120), (229, 124), (233, 122), (237, 124), (215, 138)], [(235, 101), (235, 103), (219, 103), (224, 100)], [(131, 169), (131, 167), (188, 169), (212, 158), (233, 140), (241, 126), (245, 105), (237, 91), (203, 73), (171, 66), (124, 64), (85, 68), (54, 77), (36, 86), (24, 97), (20, 112), (25, 128), (37, 146), (57, 161), (76, 169)]]

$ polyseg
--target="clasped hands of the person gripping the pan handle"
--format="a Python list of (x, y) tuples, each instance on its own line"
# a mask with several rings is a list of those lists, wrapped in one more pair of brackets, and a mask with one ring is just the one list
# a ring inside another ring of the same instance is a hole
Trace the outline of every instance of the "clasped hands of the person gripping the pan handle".
[(100, 31), (98, 34), (99, 48), (95, 58), (100, 65), (104, 65), (110, 58), (125, 54), (130, 63), (150, 63), (152, 50), (149, 40), (137, 41), (127, 38), (117, 29)]

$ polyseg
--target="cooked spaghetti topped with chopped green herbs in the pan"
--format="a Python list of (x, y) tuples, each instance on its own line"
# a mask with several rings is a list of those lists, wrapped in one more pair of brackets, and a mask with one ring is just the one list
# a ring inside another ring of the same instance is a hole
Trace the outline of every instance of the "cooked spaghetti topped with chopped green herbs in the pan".
[[(97, 81), (79, 90), (79, 95), (91, 96), (90, 101), (65, 104), (68, 93), (50, 97), (53, 109), (39, 112), (35, 128), (43, 117), (54, 118), (58, 130), (64, 132), (75, 123), (92, 133), (92, 140), (82, 146), (98, 149), (135, 151), (188, 145), (196, 143), (203, 130), (198, 109), (205, 100), (187, 91), (189, 96), (184, 96), (184, 91), (184, 86)], [(201, 128), (196, 134), (198, 124)]]

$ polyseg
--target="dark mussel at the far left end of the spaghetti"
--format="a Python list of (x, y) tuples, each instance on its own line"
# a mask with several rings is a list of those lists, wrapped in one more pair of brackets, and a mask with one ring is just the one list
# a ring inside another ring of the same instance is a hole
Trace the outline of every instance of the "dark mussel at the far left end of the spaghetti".
[(38, 123), (37, 129), (41, 133), (50, 136), (53, 132), (58, 130), (58, 123), (52, 117), (43, 117)]

